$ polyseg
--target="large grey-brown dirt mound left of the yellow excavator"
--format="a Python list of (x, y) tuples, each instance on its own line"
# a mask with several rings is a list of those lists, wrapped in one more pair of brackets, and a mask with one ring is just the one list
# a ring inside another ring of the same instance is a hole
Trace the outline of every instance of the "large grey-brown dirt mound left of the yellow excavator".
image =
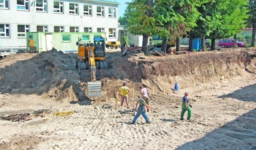
[[(27, 55), (30, 54), (8, 56), (2, 61)], [(58, 99), (61, 97), (58, 95), (70, 87), (76, 91), (80, 76), (72, 59), (70, 55), (53, 50), (5, 66), (0, 71), (1, 93), (35, 93)]]

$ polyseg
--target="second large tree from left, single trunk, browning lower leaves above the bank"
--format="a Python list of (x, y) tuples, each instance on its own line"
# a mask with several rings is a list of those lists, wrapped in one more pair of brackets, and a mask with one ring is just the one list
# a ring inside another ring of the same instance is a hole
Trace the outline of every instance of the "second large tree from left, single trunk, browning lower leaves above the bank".
[(196, 26), (199, 15), (195, 6), (200, 1), (194, 0), (158, 0), (155, 5), (156, 26), (158, 34), (163, 37), (162, 51), (166, 53), (167, 39), (174, 40)]

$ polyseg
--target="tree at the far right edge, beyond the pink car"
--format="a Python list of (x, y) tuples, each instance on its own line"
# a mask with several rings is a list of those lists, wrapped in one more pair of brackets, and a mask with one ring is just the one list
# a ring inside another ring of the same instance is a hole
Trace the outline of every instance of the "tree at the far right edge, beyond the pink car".
[(256, 1), (250, 0), (248, 2), (248, 15), (249, 18), (247, 20), (247, 27), (252, 27), (252, 44), (251, 46), (255, 46), (255, 33), (256, 33)]

